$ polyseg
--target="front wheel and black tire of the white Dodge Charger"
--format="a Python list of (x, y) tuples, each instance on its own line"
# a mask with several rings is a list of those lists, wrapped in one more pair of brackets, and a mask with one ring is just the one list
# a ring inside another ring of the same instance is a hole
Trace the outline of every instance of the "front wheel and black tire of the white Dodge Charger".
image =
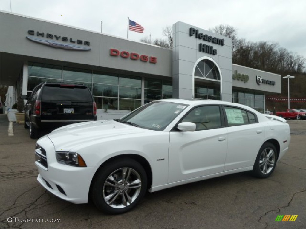
[(99, 169), (92, 183), (91, 198), (105, 213), (121, 214), (136, 206), (146, 191), (146, 171), (140, 163), (125, 157)]

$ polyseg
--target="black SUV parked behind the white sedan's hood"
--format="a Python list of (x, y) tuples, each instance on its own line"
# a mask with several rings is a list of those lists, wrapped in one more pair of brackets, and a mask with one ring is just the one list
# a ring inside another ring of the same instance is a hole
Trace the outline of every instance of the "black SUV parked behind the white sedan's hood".
[(42, 82), (31, 96), (20, 96), (25, 104), (24, 128), (30, 128), (30, 137), (37, 138), (40, 129), (97, 120), (97, 107), (87, 86)]

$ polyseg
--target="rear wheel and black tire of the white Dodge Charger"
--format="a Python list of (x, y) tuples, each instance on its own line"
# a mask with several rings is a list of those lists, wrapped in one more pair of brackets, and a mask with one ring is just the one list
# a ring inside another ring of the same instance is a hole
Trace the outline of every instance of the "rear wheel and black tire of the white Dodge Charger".
[(258, 178), (267, 178), (270, 176), (276, 166), (278, 152), (275, 146), (270, 143), (264, 143), (258, 152), (253, 167), (253, 175)]

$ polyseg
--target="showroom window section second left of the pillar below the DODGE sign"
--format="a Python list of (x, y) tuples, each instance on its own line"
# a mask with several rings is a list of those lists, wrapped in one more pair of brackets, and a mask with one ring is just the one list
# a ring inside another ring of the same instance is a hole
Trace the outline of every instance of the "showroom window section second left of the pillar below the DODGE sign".
[(98, 109), (118, 109), (118, 74), (94, 71), (92, 95)]

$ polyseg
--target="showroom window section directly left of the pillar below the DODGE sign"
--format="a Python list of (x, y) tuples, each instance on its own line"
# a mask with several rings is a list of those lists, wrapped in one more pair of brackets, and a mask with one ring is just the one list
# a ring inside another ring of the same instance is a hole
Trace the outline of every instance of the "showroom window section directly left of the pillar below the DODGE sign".
[(119, 110), (133, 111), (141, 106), (141, 77), (119, 75)]

